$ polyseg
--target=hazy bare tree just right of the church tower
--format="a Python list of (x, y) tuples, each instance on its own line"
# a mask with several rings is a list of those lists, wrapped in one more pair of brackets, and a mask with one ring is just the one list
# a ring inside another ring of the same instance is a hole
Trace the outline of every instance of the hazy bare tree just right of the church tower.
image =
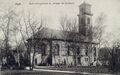
[(102, 41), (104, 40), (105, 21), (106, 15), (101, 13), (95, 20), (95, 26), (93, 26), (93, 39), (98, 42), (99, 48), (102, 46)]

